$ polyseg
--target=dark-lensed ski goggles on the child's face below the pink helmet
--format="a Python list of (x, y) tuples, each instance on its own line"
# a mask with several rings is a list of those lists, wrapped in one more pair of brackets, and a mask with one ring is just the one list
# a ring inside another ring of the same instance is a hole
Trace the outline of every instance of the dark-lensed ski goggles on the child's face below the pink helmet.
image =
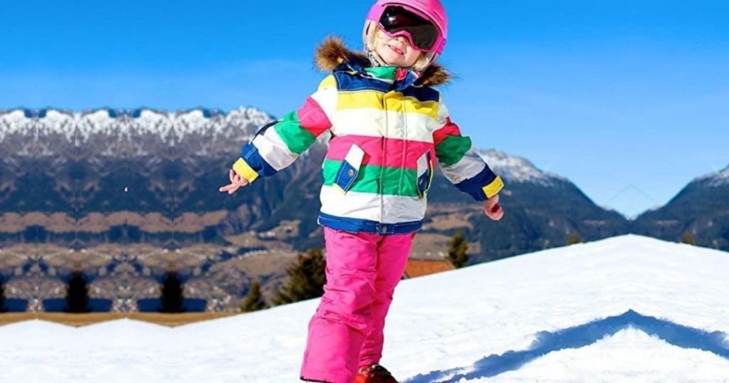
[(442, 42), (437, 26), (421, 15), (410, 12), (404, 7), (390, 6), (380, 18), (380, 28), (390, 37), (405, 36), (410, 47), (422, 52), (430, 52)]

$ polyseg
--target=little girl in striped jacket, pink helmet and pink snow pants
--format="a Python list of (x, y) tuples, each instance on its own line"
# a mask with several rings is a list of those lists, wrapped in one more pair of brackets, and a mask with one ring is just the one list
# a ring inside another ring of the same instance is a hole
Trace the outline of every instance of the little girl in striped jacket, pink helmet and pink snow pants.
[(308, 382), (397, 382), (379, 365), (383, 327), (421, 228), (434, 160), (492, 220), (504, 186), (451, 122), (434, 86), (450, 80), (434, 64), (448, 34), (439, 0), (378, 0), (364, 25), (364, 53), (327, 39), (316, 63), (331, 71), (303, 107), (264, 126), (230, 170), (239, 187), (281, 171), (316, 138), (332, 139), (322, 166), (321, 212), (327, 284), (300, 378)]

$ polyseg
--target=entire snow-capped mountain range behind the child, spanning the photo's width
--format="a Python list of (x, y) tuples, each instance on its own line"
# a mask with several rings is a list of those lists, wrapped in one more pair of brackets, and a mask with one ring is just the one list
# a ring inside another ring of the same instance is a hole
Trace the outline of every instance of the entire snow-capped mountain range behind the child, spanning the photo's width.
[[(122, 311), (154, 298), (169, 268), (216, 302), (208, 309), (235, 306), (253, 279), (270, 293), (297, 252), (323, 245), (316, 213), (328, 138), (276, 177), (219, 193), (241, 146), (271, 120), (252, 107), (0, 111), (0, 278), (34, 309), (62, 296), (73, 268)], [(442, 258), (456, 231), (469, 241), (471, 264), (625, 233), (671, 241), (690, 233), (729, 248), (729, 170), (626, 220), (525, 158), (480, 155), (507, 185), (504, 219), (488, 220), (438, 171), (413, 256)], [(251, 256), (261, 252), (270, 261)], [(29, 292), (34, 283), (46, 294)]]

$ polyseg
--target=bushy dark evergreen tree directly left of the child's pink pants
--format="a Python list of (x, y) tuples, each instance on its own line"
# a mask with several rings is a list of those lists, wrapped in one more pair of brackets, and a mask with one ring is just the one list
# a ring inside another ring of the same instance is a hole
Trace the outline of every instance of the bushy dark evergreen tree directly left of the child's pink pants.
[(305, 255), (300, 254), (297, 263), (286, 269), (289, 278), (273, 298), (273, 305), (319, 298), (324, 294), (324, 285), (327, 283), (325, 267), (322, 249), (310, 249)]

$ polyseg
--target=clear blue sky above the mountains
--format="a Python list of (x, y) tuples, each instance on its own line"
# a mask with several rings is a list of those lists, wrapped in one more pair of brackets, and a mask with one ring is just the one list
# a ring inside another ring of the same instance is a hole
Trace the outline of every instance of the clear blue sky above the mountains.
[[(729, 166), (729, 2), (445, 0), (443, 90), (483, 148), (635, 215)], [(0, 109), (297, 108), (371, 1), (12, 1)]]

